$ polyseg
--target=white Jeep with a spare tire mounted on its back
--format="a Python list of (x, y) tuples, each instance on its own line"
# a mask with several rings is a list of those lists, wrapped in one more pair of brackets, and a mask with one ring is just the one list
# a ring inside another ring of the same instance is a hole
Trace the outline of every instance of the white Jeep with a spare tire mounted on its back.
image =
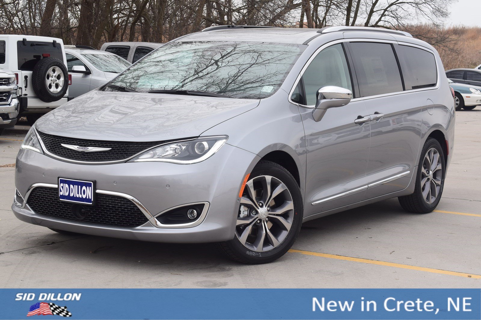
[(0, 68), (16, 78), (18, 117), (32, 125), (69, 100), (63, 41), (45, 36), (0, 35)]

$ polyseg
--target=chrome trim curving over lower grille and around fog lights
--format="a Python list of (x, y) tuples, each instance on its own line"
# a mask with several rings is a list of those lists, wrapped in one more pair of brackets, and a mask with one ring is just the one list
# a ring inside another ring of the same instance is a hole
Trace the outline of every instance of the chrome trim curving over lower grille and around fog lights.
[[(25, 197), (22, 197), (20, 192), (18, 190), (15, 190), (15, 196), (13, 197), (13, 202), (15, 203), (15, 205), (17, 207), (20, 207), (20, 208), (24, 209), (25, 205), (27, 203), (27, 199), (30, 196), (30, 193), (32, 193), (32, 190), (34, 190), (35, 188), (38, 188), (38, 187), (58, 189), (58, 185), (56, 185), (56, 184), (34, 183), (33, 185), (30, 186), (30, 188), (28, 188), (27, 193), (25, 194)], [(159, 214), (156, 214), (154, 216), (154, 215), (152, 215), (152, 213), (149, 212), (149, 210), (147, 210), (146, 207), (144, 207), (144, 205), (139, 200), (137, 200), (136, 198), (134, 198), (134, 197), (132, 197), (128, 194), (120, 193), (120, 192), (114, 192), (114, 191), (107, 191), (107, 190), (95, 190), (95, 192), (100, 193), (100, 194), (119, 196), (119, 197), (126, 198), (126, 199), (132, 201), (139, 208), (139, 210), (147, 217), (147, 219), (149, 219), (149, 222), (157, 228), (191, 228), (191, 227), (200, 225), (204, 221), (205, 216), (207, 215), (207, 210), (209, 210), (209, 202), (195, 202), (195, 203), (187, 203), (187, 204), (178, 205), (178, 206), (173, 207), (173, 208), (169, 208), (169, 209), (167, 209), (167, 210), (165, 210), (165, 211), (163, 211)], [(22, 203), (20, 203), (17, 200), (17, 197), (20, 197), (20, 199), (22, 199)], [(178, 207), (183, 207), (183, 206), (186, 206), (186, 205), (193, 205), (193, 204), (204, 204), (204, 209), (201, 213), (201, 216), (199, 217), (199, 219), (197, 219), (194, 222), (186, 223), (186, 224), (177, 224), (177, 225), (165, 225), (165, 224), (160, 223), (157, 219), (155, 219), (155, 217), (160, 216), (161, 214), (163, 214), (167, 211), (170, 211), (172, 209), (176, 209)]]

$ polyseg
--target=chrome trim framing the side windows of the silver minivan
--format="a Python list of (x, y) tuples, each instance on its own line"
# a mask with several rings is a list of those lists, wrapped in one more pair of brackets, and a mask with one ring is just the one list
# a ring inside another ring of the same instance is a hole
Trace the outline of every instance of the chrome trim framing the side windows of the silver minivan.
[(440, 73), (439, 73), (439, 64), (438, 64), (438, 61), (436, 59), (436, 55), (434, 54), (434, 52), (427, 48), (427, 47), (422, 47), (422, 46), (418, 46), (416, 44), (413, 44), (413, 43), (409, 43), (409, 42), (403, 42), (403, 41), (396, 41), (396, 40), (381, 40), (381, 39), (369, 39), (369, 38), (352, 38), (352, 39), (339, 39), (339, 40), (334, 40), (334, 41), (331, 41), (331, 42), (328, 42), (324, 45), (322, 45), (321, 47), (319, 47), (316, 51), (314, 51), (314, 53), (312, 54), (312, 56), (307, 60), (307, 62), (304, 64), (304, 67), (302, 68), (301, 72), (299, 73), (299, 75), (297, 76), (296, 80), (294, 81), (294, 84), (291, 88), (291, 91), (289, 92), (289, 96), (288, 96), (288, 101), (293, 104), (293, 105), (296, 105), (298, 107), (304, 107), (304, 108), (314, 108), (315, 106), (312, 105), (312, 106), (304, 106), (304, 105), (301, 105), (299, 103), (296, 103), (296, 102), (293, 102), (291, 100), (291, 96), (292, 94), (294, 93), (294, 90), (297, 86), (297, 83), (299, 83), (299, 80), (301, 79), (301, 77), (303, 76), (304, 74), (304, 71), (307, 69), (307, 67), (309, 66), (309, 64), (311, 64), (312, 60), (314, 60), (314, 58), (316, 58), (317, 54), (319, 54), (319, 52), (321, 52), (322, 50), (324, 50), (325, 48), (327, 47), (330, 47), (330, 46), (333, 46), (333, 45), (336, 45), (338, 43), (343, 43), (343, 42), (379, 42), (379, 43), (392, 43), (392, 44), (398, 44), (398, 45), (403, 45), (403, 46), (410, 46), (410, 47), (416, 47), (416, 48), (419, 48), (419, 49), (422, 49), (422, 50), (425, 50), (425, 51), (428, 51), (430, 53), (432, 53), (434, 55), (434, 61), (436, 62), (436, 72), (437, 72), (437, 76), (438, 76), (438, 81), (436, 83), (436, 85), (434, 87), (428, 87), (428, 88), (421, 88), (421, 89), (411, 89), (411, 90), (405, 90), (405, 91), (399, 91), (399, 92), (392, 92), (392, 93), (389, 93), (389, 94), (383, 94), (383, 95), (370, 95), (370, 96), (366, 96), (366, 97), (360, 97), (360, 98), (354, 98), (351, 100), (351, 102), (354, 102), (354, 101), (358, 101), (358, 100), (368, 100), (368, 99), (373, 99), (373, 98), (379, 98), (379, 97), (384, 97), (384, 96), (390, 96), (390, 95), (401, 95), (401, 94), (405, 94), (405, 93), (411, 93), (411, 92), (418, 92), (418, 91), (427, 91), (427, 90), (435, 90), (435, 89), (438, 89), (440, 87), (440, 83), (441, 83), (441, 79), (440, 79)]

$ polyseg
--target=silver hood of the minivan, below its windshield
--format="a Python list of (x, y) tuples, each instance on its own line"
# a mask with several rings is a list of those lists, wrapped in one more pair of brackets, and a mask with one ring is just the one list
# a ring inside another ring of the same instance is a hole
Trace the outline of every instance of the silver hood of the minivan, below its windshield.
[(92, 140), (162, 141), (197, 137), (259, 100), (90, 91), (38, 119), (42, 132)]

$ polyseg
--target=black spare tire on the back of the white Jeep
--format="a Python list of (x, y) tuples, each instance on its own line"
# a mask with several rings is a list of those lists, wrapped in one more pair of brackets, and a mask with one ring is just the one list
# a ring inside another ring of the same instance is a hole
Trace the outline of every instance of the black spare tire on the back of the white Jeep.
[[(50, 74), (47, 75), (47, 72), (52, 67), (58, 67), (55, 68), (55, 71), (58, 71), (58, 69), (60, 69), (60, 71), (62, 72), (55, 72), (55, 77), (51, 77)], [(51, 83), (50, 86), (53, 85), (54, 89), (52, 90), (60, 90), (58, 92), (52, 92), (46, 83), (47, 79), (57, 79), (55, 80), (56, 83)], [(59, 84), (60, 82), (62, 82), (62, 85)], [(43, 102), (53, 102), (60, 100), (67, 92), (68, 88), (67, 68), (65, 68), (61, 60), (56, 58), (49, 57), (39, 60), (33, 68), (32, 86), (35, 94)]]

